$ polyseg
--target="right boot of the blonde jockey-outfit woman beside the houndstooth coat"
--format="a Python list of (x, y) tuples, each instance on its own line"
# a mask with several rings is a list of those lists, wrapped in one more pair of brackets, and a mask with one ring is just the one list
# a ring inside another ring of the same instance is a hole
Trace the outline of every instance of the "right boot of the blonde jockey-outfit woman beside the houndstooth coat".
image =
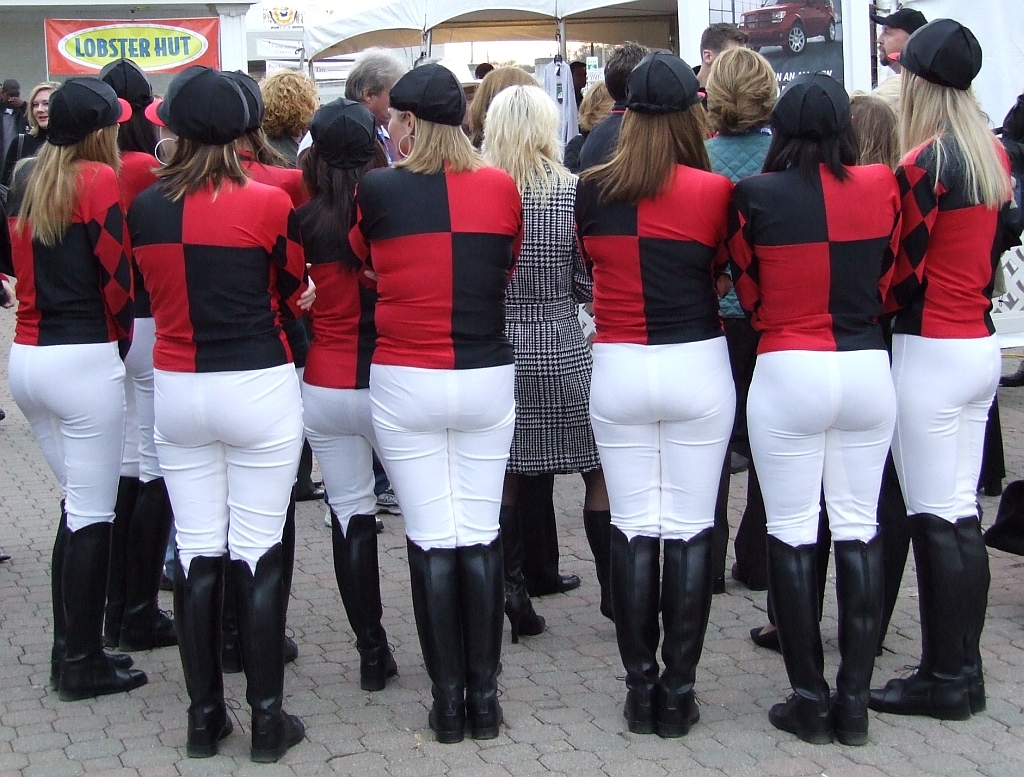
[(457, 548), (462, 642), (466, 651), (466, 717), (473, 739), (494, 739), (502, 725), (498, 667), (502, 657), (502, 538)]

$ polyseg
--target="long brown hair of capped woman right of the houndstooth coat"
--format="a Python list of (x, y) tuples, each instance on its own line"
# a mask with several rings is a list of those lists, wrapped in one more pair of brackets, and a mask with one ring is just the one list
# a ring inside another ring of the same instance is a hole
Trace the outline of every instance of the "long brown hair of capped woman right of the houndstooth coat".
[(707, 137), (705, 111), (699, 103), (672, 114), (627, 111), (615, 156), (585, 172), (583, 180), (598, 185), (602, 203), (638, 205), (665, 190), (677, 165), (710, 172)]

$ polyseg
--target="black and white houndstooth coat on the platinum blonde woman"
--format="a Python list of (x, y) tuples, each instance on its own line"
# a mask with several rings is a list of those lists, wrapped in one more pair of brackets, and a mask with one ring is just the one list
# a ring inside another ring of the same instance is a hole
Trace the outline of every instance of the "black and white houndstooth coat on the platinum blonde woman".
[(593, 359), (577, 314), (593, 280), (577, 244), (575, 187), (573, 176), (554, 181), (546, 203), (522, 198), (522, 250), (505, 297), (516, 401), (508, 471), (522, 475), (600, 466), (590, 426)]

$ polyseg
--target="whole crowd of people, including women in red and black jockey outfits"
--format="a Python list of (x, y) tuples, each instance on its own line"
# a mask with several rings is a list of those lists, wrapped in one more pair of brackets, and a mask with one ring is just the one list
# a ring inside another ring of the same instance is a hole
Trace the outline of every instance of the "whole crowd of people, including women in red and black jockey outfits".
[[(616, 49), (565, 149), (525, 71), (482, 74), (468, 105), (442, 64), (383, 51), (319, 107), (299, 74), (201, 67), (160, 99), (127, 59), (37, 86), (4, 114), (0, 231), (10, 389), (63, 495), (59, 697), (146, 682), (104, 647), (176, 644), (189, 757), (232, 731), (225, 672), (246, 675), (253, 761), (303, 739), (283, 700), (308, 444), (367, 691), (398, 672), (382, 477), (401, 506), (440, 742), (499, 735), (504, 618), (513, 642), (542, 634), (530, 595), (580, 585), (557, 572), (553, 513), (529, 515), (556, 473), (586, 485), (630, 731), (699, 720), (742, 469), (732, 574), (768, 589), (752, 638), (794, 691), (771, 723), (860, 745), (869, 708), (982, 711), (976, 490), (1013, 179), (971, 91), (977, 40), (920, 15), (877, 19), (896, 107), (823, 74), (779, 94), (744, 34), (713, 26), (696, 68)], [(173, 619), (157, 606), (169, 536)], [(818, 625), (831, 543), (835, 683)], [(910, 544), (921, 662), (871, 690)]]

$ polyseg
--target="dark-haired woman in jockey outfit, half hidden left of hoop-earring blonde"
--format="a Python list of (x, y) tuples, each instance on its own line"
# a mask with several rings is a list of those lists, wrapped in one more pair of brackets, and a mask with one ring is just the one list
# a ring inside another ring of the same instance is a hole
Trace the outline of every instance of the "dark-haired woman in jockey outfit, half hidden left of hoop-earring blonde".
[(309, 275), (316, 283), (313, 337), (302, 375), (302, 417), (327, 486), (334, 570), (359, 652), (359, 687), (380, 691), (398, 670), (381, 625), (377, 497), (370, 417), (370, 359), (377, 293), (348, 245), (355, 187), (387, 166), (374, 115), (338, 99), (313, 114), (302, 174), (313, 199), (298, 211)]

